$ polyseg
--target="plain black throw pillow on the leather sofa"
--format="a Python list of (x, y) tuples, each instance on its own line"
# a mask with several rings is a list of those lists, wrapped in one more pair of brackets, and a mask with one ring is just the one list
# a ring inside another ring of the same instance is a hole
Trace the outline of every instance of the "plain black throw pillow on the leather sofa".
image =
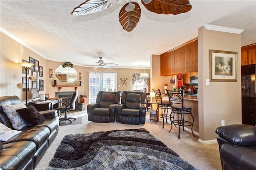
[(30, 126), (34, 127), (38, 125), (39, 123), (42, 123), (45, 121), (45, 118), (43, 115), (41, 115), (38, 110), (30, 105), (27, 108), (18, 109), (16, 110), (22, 119)]

